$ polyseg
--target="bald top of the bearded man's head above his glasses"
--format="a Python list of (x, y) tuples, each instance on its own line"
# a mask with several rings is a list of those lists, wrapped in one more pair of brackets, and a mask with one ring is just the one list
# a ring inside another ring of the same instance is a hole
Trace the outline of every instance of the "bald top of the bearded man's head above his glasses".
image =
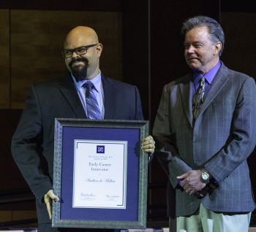
[(64, 41), (64, 49), (72, 49), (97, 43), (99, 43), (99, 39), (93, 28), (89, 28), (88, 26), (77, 26), (67, 34)]

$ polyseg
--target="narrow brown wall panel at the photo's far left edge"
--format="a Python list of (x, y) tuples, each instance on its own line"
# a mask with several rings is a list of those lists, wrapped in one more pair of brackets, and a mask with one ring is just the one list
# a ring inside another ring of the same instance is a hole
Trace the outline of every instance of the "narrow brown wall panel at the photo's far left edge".
[(0, 9), (0, 109), (10, 107), (9, 9)]

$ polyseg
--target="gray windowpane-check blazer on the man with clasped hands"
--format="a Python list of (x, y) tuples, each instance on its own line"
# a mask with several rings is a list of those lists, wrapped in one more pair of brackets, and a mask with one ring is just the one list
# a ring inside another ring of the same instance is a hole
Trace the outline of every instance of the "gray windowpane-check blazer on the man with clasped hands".
[[(255, 80), (223, 63), (194, 125), (191, 75), (165, 85), (153, 135), (162, 141), (156, 155), (176, 187), (176, 216), (195, 213), (200, 203), (214, 212), (255, 209), (246, 162), (255, 148), (255, 116)], [(199, 200), (177, 188), (176, 177), (203, 166), (219, 187)]]

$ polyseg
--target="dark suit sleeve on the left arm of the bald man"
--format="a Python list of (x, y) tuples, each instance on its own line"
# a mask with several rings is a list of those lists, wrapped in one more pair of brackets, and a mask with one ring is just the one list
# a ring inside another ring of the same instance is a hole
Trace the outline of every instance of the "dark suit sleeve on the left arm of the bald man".
[(18, 128), (12, 136), (12, 157), (36, 198), (52, 189), (48, 165), (42, 155), (42, 121), (35, 89), (32, 87)]

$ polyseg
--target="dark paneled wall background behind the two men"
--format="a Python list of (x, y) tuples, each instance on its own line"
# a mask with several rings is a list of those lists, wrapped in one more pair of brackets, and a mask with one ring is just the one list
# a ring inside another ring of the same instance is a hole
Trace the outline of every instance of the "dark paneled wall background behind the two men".
[[(256, 77), (256, 12), (249, 0), (0, 1), (0, 223), (36, 218), (33, 198), (11, 158), (10, 139), (31, 83), (65, 71), (59, 50), (67, 31), (78, 23), (96, 29), (104, 45), (102, 71), (138, 86), (152, 125), (163, 86), (189, 71), (181, 23), (194, 15), (219, 20), (226, 35), (222, 61)], [(256, 193), (254, 163), (255, 152), (249, 166)], [(148, 225), (167, 225), (166, 182), (154, 160), (148, 171)]]

